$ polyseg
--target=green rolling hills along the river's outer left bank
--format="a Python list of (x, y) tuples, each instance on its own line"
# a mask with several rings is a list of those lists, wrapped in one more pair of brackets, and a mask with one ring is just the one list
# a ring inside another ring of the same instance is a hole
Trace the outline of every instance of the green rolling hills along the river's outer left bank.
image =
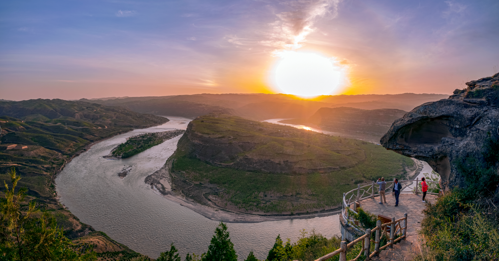
[[(59, 99), (2, 101), (0, 115), (4, 115), (0, 117), (0, 182), (12, 186), (5, 173), (14, 167), (21, 176), (18, 187), (28, 188), (23, 204), (34, 200), (51, 211), (69, 239), (83, 236), (90, 239), (98, 232), (58, 204), (53, 183), (56, 173), (96, 141), (168, 121), (124, 108)], [(9, 149), (14, 144), (22, 146)], [(98, 244), (92, 248), (100, 251)], [(139, 255), (130, 250), (125, 252), (122, 256)]]

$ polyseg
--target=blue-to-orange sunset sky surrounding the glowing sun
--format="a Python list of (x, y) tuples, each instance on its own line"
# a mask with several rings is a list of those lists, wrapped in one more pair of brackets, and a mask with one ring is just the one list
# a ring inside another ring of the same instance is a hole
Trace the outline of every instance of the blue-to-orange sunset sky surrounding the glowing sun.
[(450, 94), (498, 71), (498, 25), (497, 0), (3, 0), (0, 99), (280, 93), (286, 52), (341, 72), (327, 94)]

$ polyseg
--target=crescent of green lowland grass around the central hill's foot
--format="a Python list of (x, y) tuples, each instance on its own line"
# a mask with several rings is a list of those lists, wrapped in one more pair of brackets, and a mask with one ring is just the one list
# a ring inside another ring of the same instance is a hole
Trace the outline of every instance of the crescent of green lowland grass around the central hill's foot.
[[(346, 139), (345, 139), (346, 140)], [(196, 158), (177, 153), (173, 170), (192, 181), (209, 182), (226, 189), (224, 197), (240, 209), (268, 212), (305, 212), (310, 209), (338, 206), (344, 192), (356, 188), (355, 180), (377, 180), (397, 177), (404, 166), (414, 162), (383, 147), (350, 140), (366, 154), (366, 160), (352, 168), (330, 173), (306, 175), (247, 172), (213, 166)], [(265, 194), (281, 196), (269, 200)], [(306, 203), (300, 203), (306, 201)]]

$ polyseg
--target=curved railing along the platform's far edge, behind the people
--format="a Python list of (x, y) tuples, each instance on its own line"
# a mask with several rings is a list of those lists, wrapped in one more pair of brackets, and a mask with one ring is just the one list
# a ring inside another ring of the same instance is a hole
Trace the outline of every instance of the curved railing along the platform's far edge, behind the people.
[[(398, 182), (402, 185), (401, 193), (415, 193), (415, 194), (423, 193), (420, 191), (420, 184), (419, 184), (420, 179), (419, 178), (416, 178), (415, 180), (399, 180)], [(413, 185), (414, 182), (416, 182), (414, 190), (404, 191), (404, 189)], [(426, 180), (426, 182), (438, 184), (438, 182), (436, 182), (436, 181)], [(392, 187), (393, 187), (394, 183), (395, 183), (395, 179), (394, 179), (394, 181), (386, 182), (386, 186), (385, 186), (386, 193), (393, 192)], [(376, 194), (376, 192), (378, 192), (378, 193)], [(442, 193), (442, 191), (441, 191), (441, 193)], [(432, 192), (427, 192), (427, 194), (428, 195), (439, 195), (439, 193), (432, 193)], [(372, 182), (372, 184), (365, 185), (362, 187), (360, 185), (357, 185), (356, 189), (353, 189), (347, 193), (343, 193), (343, 204), (341, 206), (341, 215), (343, 216), (343, 220), (345, 221), (345, 224), (349, 227), (352, 227), (357, 232), (363, 233), (363, 231), (361, 231), (361, 229), (355, 225), (355, 220), (353, 219), (353, 217), (349, 217), (347, 210), (350, 209), (350, 204), (352, 204), (353, 202), (360, 202), (360, 201), (363, 201), (365, 199), (374, 198), (376, 196), (379, 196), (379, 185), (377, 183), (375, 183), (374, 181)], [(357, 214), (356, 210), (351, 209), (351, 211), (353, 211), (355, 214)]]

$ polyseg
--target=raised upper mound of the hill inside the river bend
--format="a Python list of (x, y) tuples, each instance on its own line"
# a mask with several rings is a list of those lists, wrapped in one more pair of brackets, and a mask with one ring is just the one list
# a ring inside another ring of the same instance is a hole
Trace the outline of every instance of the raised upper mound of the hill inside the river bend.
[(338, 137), (230, 115), (191, 121), (179, 150), (217, 166), (270, 173), (330, 172), (366, 158)]

